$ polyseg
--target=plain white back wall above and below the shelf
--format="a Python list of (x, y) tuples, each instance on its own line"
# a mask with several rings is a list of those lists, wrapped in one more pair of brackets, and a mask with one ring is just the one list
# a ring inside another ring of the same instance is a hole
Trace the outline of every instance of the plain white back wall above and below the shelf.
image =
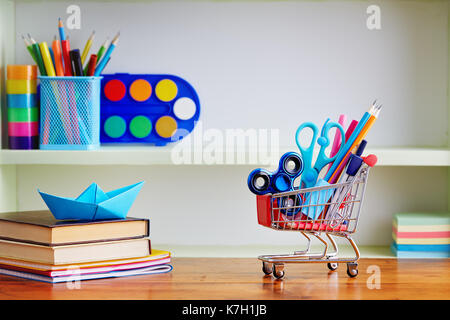
[[(120, 30), (108, 72), (185, 78), (206, 129), (279, 128), (280, 144), (294, 147), (301, 122), (359, 119), (378, 98), (385, 107), (370, 146), (446, 146), (448, 4), (373, 3), (379, 31), (366, 28), (368, 2), (81, 2), (82, 29), (68, 34), (82, 47), (95, 29), (96, 51)], [(31, 62), (20, 34), (50, 41), (68, 4), (18, 2), (17, 63)], [(75, 196), (93, 181), (111, 190), (145, 180), (130, 216), (151, 219), (154, 244), (298, 243), (298, 234), (257, 225), (252, 169), (18, 166), (18, 207), (44, 208), (37, 188)], [(356, 238), (389, 244), (393, 213), (446, 210), (447, 195), (447, 168), (375, 168)]]

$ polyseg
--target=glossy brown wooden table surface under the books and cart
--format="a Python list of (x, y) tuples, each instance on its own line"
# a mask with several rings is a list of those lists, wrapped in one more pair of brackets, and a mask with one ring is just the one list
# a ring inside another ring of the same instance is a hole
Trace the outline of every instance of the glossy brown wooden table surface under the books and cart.
[[(288, 264), (286, 276), (265, 276), (244, 258), (174, 258), (170, 273), (48, 284), (0, 276), (0, 299), (450, 299), (450, 259), (361, 259), (359, 275), (346, 265)], [(380, 288), (375, 285), (379, 270)], [(369, 271), (369, 272), (368, 272)]]

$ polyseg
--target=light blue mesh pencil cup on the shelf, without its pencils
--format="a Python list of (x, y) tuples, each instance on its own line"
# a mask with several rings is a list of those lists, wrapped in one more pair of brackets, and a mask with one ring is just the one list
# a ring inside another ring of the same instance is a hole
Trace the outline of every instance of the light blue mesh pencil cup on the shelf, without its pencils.
[(93, 150), (100, 146), (102, 77), (40, 79), (40, 148)]

